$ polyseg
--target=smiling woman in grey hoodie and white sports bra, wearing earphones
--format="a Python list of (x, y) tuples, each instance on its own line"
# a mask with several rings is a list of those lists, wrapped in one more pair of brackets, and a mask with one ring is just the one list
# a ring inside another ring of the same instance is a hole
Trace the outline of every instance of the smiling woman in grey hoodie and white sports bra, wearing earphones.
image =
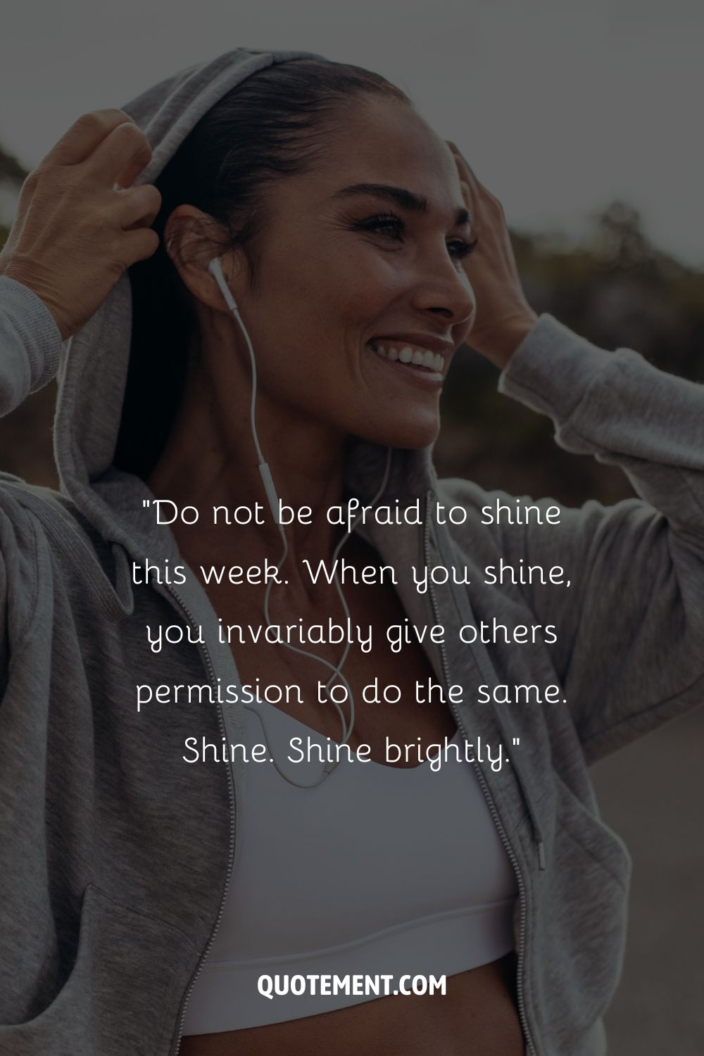
[[(0, 489), (0, 1049), (604, 1052), (629, 862), (586, 766), (699, 701), (701, 390), (536, 321), (500, 207), (374, 74), (239, 50), (126, 113), (66, 133), (0, 256), (5, 412), (72, 338), (61, 492)], [(643, 498), (438, 480), (470, 333)], [(337, 553), (342, 593), (310, 574)], [(373, 650), (244, 633), (345, 611)], [(299, 762), (302, 733), (362, 754)], [(473, 765), (399, 770), (389, 742)], [(308, 978), (406, 969), (446, 994)], [(306, 993), (270, 999), (277, 975)]]

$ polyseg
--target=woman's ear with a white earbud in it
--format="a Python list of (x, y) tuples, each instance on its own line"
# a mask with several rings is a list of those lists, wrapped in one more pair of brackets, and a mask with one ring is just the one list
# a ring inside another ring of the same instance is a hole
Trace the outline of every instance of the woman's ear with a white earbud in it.
[[(229, 313), (208, 265), (220, 257), (225, 281), (237, 300), (241, 268), (232, 250), (223, 251), (223, 228), (208, 213), (192, 205), (177, 206), (164, 229), (164, 245), (186, 288), (202, 304)], [(222, 256), (221, 256), (222, 254)], [(235, 271), (236, 274), (232, 274)]]

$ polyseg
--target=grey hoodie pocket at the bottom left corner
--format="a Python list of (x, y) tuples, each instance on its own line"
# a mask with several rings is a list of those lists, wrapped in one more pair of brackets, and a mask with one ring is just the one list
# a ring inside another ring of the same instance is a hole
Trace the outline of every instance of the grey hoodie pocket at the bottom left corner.
[(0, 1026), (0, 1053), (166, 1056), (197, 959), (184, 932), (89, 884), (69, 978), (34, 1019)]

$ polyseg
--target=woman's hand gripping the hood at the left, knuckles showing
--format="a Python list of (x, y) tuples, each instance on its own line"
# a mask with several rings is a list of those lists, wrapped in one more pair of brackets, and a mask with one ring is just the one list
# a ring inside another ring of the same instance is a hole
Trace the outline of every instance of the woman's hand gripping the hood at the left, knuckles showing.
[(131, 117), (95, 110), (71, 126), (22, 185), (0, 276), (41, 298), (62, 339), (85, 325), (126, 268), (158, 246), (149, 225), (161, 196), (153, 185), (131, 186), (151, 156)]

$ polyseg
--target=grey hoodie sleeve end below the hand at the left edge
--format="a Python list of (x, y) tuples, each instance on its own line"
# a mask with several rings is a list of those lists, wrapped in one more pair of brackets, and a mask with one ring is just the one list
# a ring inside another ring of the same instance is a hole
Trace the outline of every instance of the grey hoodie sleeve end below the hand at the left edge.
[(0, 277), (0, 417), (51, 381), (60, 352), (61, 334), (44, 302)]

